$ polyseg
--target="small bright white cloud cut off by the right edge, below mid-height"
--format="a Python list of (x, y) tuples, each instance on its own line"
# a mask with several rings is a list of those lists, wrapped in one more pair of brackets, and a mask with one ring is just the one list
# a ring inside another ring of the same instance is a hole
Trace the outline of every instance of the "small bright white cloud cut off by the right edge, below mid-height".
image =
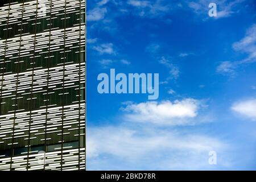
[(232, 110), (245, 117), (256, 120), (256, 99), (237, 102), (232, 106)]

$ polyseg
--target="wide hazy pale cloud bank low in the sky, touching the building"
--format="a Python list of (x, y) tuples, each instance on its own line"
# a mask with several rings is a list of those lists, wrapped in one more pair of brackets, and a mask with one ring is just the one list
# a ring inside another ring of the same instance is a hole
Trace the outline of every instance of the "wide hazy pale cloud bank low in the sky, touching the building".
[[(221, 154), (228, 145), (199, 134), (151, 127), (89, 127), (86, 157), (89, 170), (209, 169), (209, 151)], [(225, 158), (225, 162), (228, 161)], [(224, 165), (221, 157), (218, 166)]]

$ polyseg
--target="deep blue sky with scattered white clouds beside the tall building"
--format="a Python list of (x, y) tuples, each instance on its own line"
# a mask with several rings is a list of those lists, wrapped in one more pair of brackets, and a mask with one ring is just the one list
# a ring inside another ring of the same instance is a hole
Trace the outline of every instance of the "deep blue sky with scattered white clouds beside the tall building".
[[(256, 169), (254, 0), (90, 0), (86, 18), (86, 169)], [(158, 99), (98, 93), (111, 68), (159, 73)]]

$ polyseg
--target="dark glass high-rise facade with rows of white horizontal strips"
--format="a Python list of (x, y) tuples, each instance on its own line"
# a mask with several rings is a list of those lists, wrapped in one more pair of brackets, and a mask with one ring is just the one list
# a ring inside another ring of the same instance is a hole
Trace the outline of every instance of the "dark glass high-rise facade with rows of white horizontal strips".
[(0, 170), (85, 169), (85, 10), (0, 1)]

